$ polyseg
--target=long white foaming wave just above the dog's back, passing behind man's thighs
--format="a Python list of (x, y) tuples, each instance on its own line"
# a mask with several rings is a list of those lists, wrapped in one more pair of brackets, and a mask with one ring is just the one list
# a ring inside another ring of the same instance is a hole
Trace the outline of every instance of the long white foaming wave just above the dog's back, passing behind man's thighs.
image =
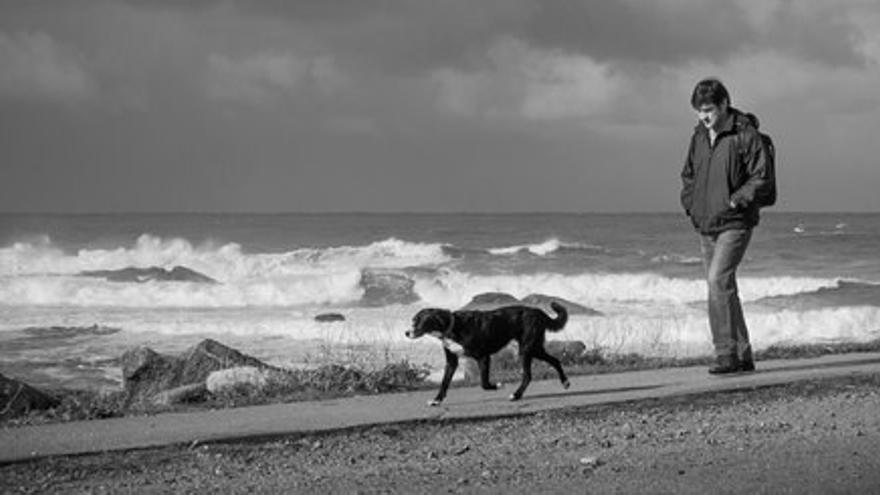
[[(746, 301), (833, 288), (837, 280), (798, 277), (741, 278)], [(161, 282), (120, 284), (71, 275), (0, 277), (0, 304), (120, 307), (242, 307), (308, 304), (410, 304), (461, 307), (486, 292), (517, 298), (541, 293), (597, 307), (606, 303), (693, 304), (706, 298), (705, 281), (654, 273), (534, 273), (477, 275), (449, 267), (359, 268), (327, 266), (311, 271), (229, 279), (220, 284)]]

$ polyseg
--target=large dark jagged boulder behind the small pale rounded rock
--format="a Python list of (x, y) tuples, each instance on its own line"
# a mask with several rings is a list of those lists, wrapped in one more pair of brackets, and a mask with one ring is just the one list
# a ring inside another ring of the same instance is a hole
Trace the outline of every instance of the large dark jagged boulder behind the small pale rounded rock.
[(212, 372), (240, 366), (275, 369), (211, 339), (201, 341), (180, 357), (137, 347), (122, 356), (123, 386), (132, 404), (184, 385), (204, 385)]

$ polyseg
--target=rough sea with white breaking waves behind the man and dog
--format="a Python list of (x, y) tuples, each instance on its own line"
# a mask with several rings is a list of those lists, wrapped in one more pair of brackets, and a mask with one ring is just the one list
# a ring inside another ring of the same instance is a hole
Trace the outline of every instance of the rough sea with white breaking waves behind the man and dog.
[[(754, 347), (880, 337), (878, 248), (877, 213), (764, 213), (738, 272)], [(197, 277), (149, 271), (175, 267)], [(592, 310), (550, 340), (711, 355), (703, 273), (698, 236), (674, 213), (7, 213), (0, 373), (114, 389), (127, 350), (205, 338), (279, 366), (438, 370), (440, 344), (405, 336), (413, 315), (485, 293)]]

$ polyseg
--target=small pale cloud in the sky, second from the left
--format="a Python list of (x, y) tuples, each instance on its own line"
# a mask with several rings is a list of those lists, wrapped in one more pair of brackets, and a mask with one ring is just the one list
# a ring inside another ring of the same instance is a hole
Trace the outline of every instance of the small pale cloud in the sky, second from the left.
[(265, 104), (299, 92), (329, 94), (346, 84), (345, 75), (329, 57), (290, 53), (258, 53), (235, 59), (208, 57), (208, 95), (224, 101)]

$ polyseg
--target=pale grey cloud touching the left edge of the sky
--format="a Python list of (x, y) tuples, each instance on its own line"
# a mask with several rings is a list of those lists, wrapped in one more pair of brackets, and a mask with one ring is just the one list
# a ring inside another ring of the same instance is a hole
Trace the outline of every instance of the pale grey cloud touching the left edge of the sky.
[(74, 101), (96, 83), (82, 57), (43, 32), (0, 32), (0, 95)]

